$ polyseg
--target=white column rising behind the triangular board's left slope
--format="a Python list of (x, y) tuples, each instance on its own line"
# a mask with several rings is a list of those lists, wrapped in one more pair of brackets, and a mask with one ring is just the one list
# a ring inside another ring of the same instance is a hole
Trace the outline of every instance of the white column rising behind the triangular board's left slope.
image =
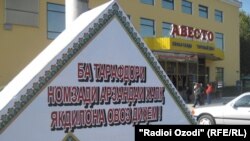
[(88, 0), (65, 0), (66, 28), (83, 12), (88, 11)]

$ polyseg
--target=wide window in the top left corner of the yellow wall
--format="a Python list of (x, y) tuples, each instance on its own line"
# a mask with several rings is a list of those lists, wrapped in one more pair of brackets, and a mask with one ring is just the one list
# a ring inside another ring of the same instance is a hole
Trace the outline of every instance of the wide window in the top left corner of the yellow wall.
[(39, 0), (5, 0), (6, 24), (38, 26)]

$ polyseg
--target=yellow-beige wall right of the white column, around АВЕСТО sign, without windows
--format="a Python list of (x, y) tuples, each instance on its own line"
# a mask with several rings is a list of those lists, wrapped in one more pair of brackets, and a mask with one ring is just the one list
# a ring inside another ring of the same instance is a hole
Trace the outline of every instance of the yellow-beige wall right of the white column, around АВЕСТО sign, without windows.
[[(107, 1), (107, 0), (106, 0)], [(216, 67), (224, 68), (225, 85), (235, 85), (240, 79), (240, 57), (239, 57), (239, 9), (221, 0), (189, 0), (193, 3), (193, 14), (187, 15), (181, 11), (181, 0), (175, 0), (175, 10), (167, 10), (161, 7), (161, 0), (155, 0), (155, 5), (141, 4), (140, 0), (118, 0), (124, 11), (131, 16), (135, 28), (140, 30), (140, 18), (155, 20), (156, 37), (161, 36), (162, 22), (170, 22), (178, 25), (187, 25), (212, 32), (224, 34), (224, 60), (207, 61), (210, 67), (210, 81), (216, 80)], [(90, 1), (90, 7), (94, 7), (101, 1)], [(131, 4), (133, 3), (133, 4)], [(208, 19), (199, 17), (199, 4), (208, 7)], [(218, 23), (214, 20), (214, 10), (223, 11), (224, 21)]]

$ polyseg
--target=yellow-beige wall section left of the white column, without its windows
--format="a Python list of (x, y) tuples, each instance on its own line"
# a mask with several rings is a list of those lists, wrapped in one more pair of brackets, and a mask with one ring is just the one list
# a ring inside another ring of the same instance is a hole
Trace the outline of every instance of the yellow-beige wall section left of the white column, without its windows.
[(64, 3), (62, 0), (39, 0), (39, 24), (34, 26), (11, 25), (4, 28), (5, 0), (0, 0), (0, 87), (13, 79), (50, 42), (47, 39), (47, 2)]

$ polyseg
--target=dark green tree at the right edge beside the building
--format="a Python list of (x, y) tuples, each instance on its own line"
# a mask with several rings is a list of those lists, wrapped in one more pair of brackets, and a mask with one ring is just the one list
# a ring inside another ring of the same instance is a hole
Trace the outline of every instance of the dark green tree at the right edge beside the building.
[(250, 16), (240, 11), (240, 71), (250, 75)]

